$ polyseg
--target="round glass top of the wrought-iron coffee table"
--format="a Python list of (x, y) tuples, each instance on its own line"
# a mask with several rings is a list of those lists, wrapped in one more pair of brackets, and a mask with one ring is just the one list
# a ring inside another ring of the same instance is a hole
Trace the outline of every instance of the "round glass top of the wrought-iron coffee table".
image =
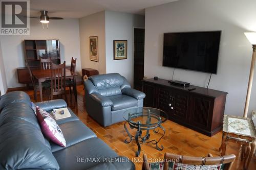
[(123, 118), (131, 124), (138, 124), (139, 121), (140, 125), (157, 125), (160, 120), (165, 122), (167, 114), (157, 108), (143, 107), (126, 110)]

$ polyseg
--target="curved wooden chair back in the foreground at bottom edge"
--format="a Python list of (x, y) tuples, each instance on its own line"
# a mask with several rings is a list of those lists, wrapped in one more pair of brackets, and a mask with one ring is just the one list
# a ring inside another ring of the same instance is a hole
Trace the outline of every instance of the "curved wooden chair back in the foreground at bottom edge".
[[(163, 169), (223, 169), (230, 170), (232, 164), (236, 159), (236, 156), (225, 155), (225, 156), (217, 156), (212, 157), (211, 154), (208, 154), (208, 157), (192, 157), (192, 156), (182, 156), (175, 155), (170, 153), (164, 154), (164, 162)], [(146, 154), (143, 155), (143, 168), (145, 170), (150, 170), (150, 164), (152, 162), (148, 162)], [(155, 165), (155, 164), (154, 164)]]

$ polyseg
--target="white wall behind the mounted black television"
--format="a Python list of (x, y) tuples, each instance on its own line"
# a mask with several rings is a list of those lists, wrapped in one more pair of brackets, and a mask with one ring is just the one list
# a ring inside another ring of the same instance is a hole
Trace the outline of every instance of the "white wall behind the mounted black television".
[[(254, 0), (180, 0), (145, 10), (145, 75), (171, 79), (162, 66), (163, 33), (222, 30), (218, 75), (209, 88), (227, 91), (225, 114), (243, 115), (252, 48), (244, 32), (256, 31)], [(206, 87), (209, 74), (175, 70), (175, 80)], [(256, 110), (256, 76), (249, 112)]]

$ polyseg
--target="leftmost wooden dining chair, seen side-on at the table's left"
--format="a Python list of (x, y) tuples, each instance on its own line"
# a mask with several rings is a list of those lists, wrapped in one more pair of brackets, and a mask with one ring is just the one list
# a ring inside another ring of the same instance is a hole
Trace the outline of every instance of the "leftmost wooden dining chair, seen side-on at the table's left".
[[(25, 64), (26, 64), (26, 67), (28, 68), (30, 80), (33, 85), (34, 100), (37, 102), (37, 91), (40, 91), (39, 84), (38, 84), (37, 80), (34, 78), (34, 76), (32, 75), (32, 71), (31, 71), (27, 61), (25, 61)], [(46, 89), (50, 89), (50, 87), (51, 87), (51, 84), (49, 84), (48, 82), (42, 82), (42, 89), (46, 90)]]

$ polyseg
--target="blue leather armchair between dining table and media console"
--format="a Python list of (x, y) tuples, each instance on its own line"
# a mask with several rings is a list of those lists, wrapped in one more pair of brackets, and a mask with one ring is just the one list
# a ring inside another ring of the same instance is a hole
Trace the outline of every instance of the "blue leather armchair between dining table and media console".
[(84, 87), (87, 113), (104, 127), (124, 121), (124, 111), (143, 107), (145, 93), (118, 73), (91, 76)]

